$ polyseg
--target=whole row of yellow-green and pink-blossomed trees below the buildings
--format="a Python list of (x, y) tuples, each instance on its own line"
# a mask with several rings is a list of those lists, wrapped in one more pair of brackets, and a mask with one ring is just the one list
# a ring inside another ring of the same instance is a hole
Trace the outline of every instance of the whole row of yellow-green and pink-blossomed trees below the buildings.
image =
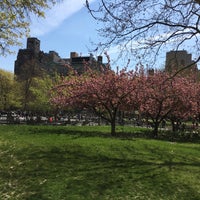
[(137, 112), (150, 120), (155, 137), (163, 121), (170, 121), (173, 130), (178, 122), (199, 121), (200, 82), (196, 74), (172, 76), (161, 70), (147, 72), (143, 66), (135, 70), (114, 71), (110, 66), (101, 71), (86, 69), (83, 74), (72, 71), (66, 77), (26, 74), (25, 79), (0, 70), (0, 110), (55, 115), (87, 110), (110, 123), (112, 135), (116, 135), (119, 113)]

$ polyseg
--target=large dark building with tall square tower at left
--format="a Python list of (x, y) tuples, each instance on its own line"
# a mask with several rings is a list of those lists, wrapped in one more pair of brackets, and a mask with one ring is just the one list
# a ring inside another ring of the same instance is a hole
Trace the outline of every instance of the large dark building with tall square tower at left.
[(69, 73), (69, 66), (71, 66), (77, 73), (83, 73), (85, 63), (89, 63), (94, 70), (100, 70), (105, 66), (102, 56), (94, 58), (92, 54), (89, 56), (79, 56), (76, 52), (71, 52), (69, 58), (61, 58), (55, 51), (44, 53), (40, 50), (40, 40), (37, 38), (28, 38), (26, 49), (18, 51), (17, 59), (15, 61), (14, 73), (17, 77), (23, 78), (28, 74), (32, 76), (39, 76), (42, 72), (47, 72), (50, 75), (58, 73), (67, 76)]

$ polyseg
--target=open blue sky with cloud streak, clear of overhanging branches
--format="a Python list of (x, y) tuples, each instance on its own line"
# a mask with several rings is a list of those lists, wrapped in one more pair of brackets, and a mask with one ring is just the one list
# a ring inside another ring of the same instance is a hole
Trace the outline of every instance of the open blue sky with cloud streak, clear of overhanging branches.
[[(97, 1), (89, 2), (95, 4)], [(65, 0), (46, 11), (45, 19), (32, 18), (30, 37), (40, 40), (41, 51), (56, 51), (61, 58), (69, 58), (70, 52), (87, 56), (95, 49), (91, 41), (100, 40), (97, 22), (88, 13), (84, 3), (85, 0)], [(0, 57), (1, 69), (14, 72), (18, 50), (26, 48), (26, 40), (22, 38), (22, 46), (11, 49), (15, 51), (14, 54)]]

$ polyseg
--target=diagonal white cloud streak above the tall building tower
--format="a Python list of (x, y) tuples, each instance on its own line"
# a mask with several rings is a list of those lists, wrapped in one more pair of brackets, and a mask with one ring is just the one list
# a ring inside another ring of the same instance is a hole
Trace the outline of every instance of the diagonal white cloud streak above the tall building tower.
[[(90, 3), (95, 0), (89, 0)], [(85, 0), (63, 0), (46, 11), (45, 18), (32, 18), (31, 35), (41, 36), (56, 29), (62, 22), (84, 7)]]

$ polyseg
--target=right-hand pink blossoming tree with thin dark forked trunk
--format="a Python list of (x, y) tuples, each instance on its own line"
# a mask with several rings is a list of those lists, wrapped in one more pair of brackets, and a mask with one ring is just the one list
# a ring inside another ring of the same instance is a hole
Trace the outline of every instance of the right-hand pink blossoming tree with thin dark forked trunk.
[(171, 78), (157, 71), (145, 77), (140, 92), (139, 111), (153, 122), (153, 135), (166, 119), (185, 119), (193, 112), (192, 83), (183, 77)]

